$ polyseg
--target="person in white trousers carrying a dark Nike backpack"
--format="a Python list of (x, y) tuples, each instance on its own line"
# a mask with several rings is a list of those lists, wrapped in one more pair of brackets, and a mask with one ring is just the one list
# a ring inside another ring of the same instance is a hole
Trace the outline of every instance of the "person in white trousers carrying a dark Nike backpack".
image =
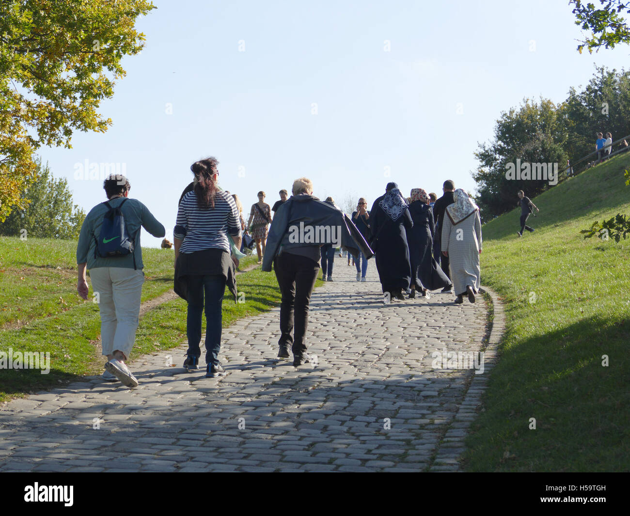
[(144, 283), (140, 227), (157, 238), (166, 231), (144, 204), (128, 197), (131, 186), (125, 176), (110, 175), (103, 188), (108, 200), (93, 207), (81, 226), (77, 292), (88, 299), (87, 268), (101, 314), (101, 347), (108, 360), (103, 379), (137, 387), (125, 362), (134, 347)]

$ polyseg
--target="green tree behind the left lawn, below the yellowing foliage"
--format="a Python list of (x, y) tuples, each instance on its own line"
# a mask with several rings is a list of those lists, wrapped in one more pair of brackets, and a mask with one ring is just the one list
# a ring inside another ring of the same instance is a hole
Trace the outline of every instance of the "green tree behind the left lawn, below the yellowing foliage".
[(79, 238), (85, 212), (72, 204), (72, 192), (66, 178), (55, 179), (48, 164), (35, 162), (36, 174), (21, 193), (25, 209), (13, 209), (4, 222), (0, 234), (37, 238)]

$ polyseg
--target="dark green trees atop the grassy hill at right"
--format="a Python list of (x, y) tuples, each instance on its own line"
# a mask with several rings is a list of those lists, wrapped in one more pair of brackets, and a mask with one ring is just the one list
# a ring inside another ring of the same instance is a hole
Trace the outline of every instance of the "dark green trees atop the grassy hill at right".
[[(544, 180), (508, 180), (508, 163), (517, 158), (522, 163), (558, 163), (559, 179), (563, 180), (567, 159), (573, 164), (595, 151), (597, 132), (610, 132), (613, 140), (630, 133), (629, 112), (630, 72), (596, 67), (587, 86), (581, 91), (571, 88), (559, 105), (544, 99), (539, 103), (525, 100), (519, 108), (501, 113), (494, 139), (479, 144), (475, 153), (479, 167), (473, 178), (483, 220), (512, 209), (518, 190), (532, 197), (549, 186)], [(613, 151), (619, 149), (617, 145)], [(585, 168), (587, 161), (574, 172)]]

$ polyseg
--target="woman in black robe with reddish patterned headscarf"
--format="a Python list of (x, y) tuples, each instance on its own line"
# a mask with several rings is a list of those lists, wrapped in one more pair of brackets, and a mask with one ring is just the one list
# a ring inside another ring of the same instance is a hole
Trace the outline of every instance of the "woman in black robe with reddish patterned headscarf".
[(450, 287), (450, 280), (433, 258), (433, 235), (435, 224), (429, 196), (422, 188), (411, 190), (409, 212), (413, 227), (407, 230), (411, 261), (411, 294), (415, 297), (416, 289), (421, 295), (429, 297), (430, 290)]

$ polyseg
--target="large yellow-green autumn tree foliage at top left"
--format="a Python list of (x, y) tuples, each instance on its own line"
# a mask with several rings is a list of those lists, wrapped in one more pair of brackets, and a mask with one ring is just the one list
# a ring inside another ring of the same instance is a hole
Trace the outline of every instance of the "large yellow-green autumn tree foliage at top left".
[(0, 2), (0, 221), (21, 204), (35, 173), (33, 151), (71, 147), (75, 130), (105, 132), (97, 112), (111, 98), (121, 61), (137, 54), (147, 0)]

